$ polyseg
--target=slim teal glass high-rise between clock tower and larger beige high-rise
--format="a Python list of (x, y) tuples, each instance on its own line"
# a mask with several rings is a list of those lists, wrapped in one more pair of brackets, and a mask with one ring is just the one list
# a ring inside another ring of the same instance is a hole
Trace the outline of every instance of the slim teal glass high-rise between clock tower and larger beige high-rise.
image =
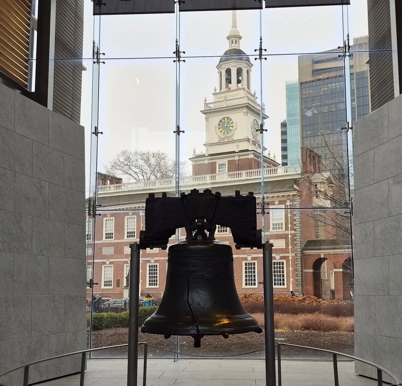
[(287, 165), (299, 165), (300, 156), (300, 125), (298, 81), (286, 82), (286, 126), (287, 126)]

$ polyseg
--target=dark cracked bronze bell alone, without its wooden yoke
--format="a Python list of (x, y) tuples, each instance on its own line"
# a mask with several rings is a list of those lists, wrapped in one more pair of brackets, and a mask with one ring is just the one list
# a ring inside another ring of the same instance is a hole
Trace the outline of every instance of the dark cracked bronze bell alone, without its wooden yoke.
[(205, 335), (262, 332), (237, 295), (232, 248), (205, 239), (172, 245), (162, 301), (141, 331), (165, 338), (190, 335), (194, 347)]

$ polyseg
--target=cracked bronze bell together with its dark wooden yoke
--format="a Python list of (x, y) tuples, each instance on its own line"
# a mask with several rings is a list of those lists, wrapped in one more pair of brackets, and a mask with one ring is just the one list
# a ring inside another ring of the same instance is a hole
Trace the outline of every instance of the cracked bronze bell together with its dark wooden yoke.
[[(164, 215), (170, 218), (170, 225), (166, 222), (166, 226), (172, 228), (163, 229), (163, 220), (153, 222), (166, 218)], [(194, 347), (200, 347), (205, 335), (228, 338), (230, 334), (262, 332), (237, 295), (232, 248), (216, 241), (214, 236), (218, 223), (231, 227), (235, 241), (241, 241), (237, 248), (261, 247), (252, 194), (240, 196), (236, 192), (235, 197), (221, 197), (209, 189), (204, 193), (194, 189), (180, 198), (151, 196), (146, 202), (145, 217), (146, 230), (141, 231), (140, 248), (156, 246), (151, 241), (157, 239), (158, 245), (164, 246), (161, 236), (175, 231), (177, 224), (184, 226), (187, 236), (185, 241), (169, 247), (165, 291), (157, 311), (142, 325), (142, 332), (162, 334), (165, 338), (189, 335), (194, 338)], [(167, 241), (168, 238), (166, 244)]]

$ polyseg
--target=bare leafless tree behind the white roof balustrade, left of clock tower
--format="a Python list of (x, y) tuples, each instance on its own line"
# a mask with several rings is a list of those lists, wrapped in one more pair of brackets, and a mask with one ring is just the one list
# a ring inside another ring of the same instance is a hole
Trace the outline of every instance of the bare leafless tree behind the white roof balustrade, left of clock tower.
[[(130, 181), (148, 181), (172, 178), (176, 163), (162, 151), (123, 150), (109, 162), (106, 172), (111, 175), (126, 177)], [(180, 176), (185, 175), (185, 162), (180, 162)]]

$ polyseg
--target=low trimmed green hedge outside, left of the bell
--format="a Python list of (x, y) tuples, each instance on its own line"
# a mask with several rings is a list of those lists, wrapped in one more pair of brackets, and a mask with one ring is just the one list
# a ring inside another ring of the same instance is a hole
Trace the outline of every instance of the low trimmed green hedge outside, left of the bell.
[[(145, 322), (145, 320), (150, 317), (157, 309), (157, 306), (140, 307), (138, 309), (138, 325), (141, 326)], [(120, 314), (115, 312), (97, 312), (94, 313), (92, 316), (92, 323), (94, 330), (114, 327), (128, 327), (129, 312), (125, 311)]]

